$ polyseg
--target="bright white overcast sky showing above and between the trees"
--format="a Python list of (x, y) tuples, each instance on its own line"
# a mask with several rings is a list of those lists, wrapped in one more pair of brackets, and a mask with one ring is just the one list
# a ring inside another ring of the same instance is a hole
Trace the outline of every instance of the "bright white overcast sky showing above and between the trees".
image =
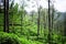
[[(47, 6), (48, 6), (46, 0), (41, 0), (41, 1), (38, 1), (38, 0), (31, 0), (31, 1), (24, 0), (24, 1), (28, 4), (28, 7), (25, 7), (25, 10), (28, 12), (37, 11), (38, 6), (42, 6), (43, 8), (47, 8)], [(20, 1), (15, 0), (15, 2), (21, 4), (21, 0)], [(66, 0), (54, 0), (54, 7), (56, 10), (58, 10), (61, 12), (65, 12), (66, 11)]]

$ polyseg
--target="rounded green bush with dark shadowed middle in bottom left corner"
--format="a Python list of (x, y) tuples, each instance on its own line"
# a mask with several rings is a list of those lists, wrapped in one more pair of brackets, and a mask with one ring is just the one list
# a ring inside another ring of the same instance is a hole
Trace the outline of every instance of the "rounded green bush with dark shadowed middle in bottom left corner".
[(0, 32), (0, 44), (20, 44), (20, 40), (14, 34)]

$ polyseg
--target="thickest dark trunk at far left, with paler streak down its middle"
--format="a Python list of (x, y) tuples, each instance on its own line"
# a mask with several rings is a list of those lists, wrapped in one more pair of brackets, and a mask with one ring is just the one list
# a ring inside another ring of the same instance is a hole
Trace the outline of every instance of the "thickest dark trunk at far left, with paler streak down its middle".
[(9, 33), (9, 0), (4, 0), (4, 30)]

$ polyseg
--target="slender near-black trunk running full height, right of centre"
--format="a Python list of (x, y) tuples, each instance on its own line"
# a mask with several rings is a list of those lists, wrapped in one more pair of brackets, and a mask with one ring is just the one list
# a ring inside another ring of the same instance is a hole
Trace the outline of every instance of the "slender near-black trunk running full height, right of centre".
[(48, 44), (52, 44), (51, 42), (51, 33), (52, 33), (52, 29), (51, 29), (51, 6), (50, 6), (51, 0), (48, 0)]

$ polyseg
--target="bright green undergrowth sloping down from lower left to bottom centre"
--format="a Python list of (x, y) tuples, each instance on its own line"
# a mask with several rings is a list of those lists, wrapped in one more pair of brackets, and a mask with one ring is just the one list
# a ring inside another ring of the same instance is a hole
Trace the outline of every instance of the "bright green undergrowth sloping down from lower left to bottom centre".
[(24, 36), (19, 37), (13, 33), (0, 32), (0, 44), (42, 44), (42, 43), (37, 41), (28, 40)]

